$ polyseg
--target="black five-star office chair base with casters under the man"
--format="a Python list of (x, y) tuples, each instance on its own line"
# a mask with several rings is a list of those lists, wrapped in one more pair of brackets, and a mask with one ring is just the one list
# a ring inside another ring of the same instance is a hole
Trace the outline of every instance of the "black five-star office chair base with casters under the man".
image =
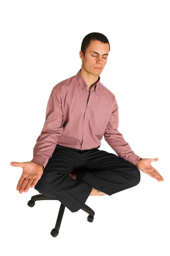
[[(79, 172), (76, 172), (76, 171), (71, 172), (72, 175), (76, 175), (78, 173)], [(50, 196), (46, 196), (46, 195), (43, 195), (43, 194), (33, 195), (31, 197), (31, 200), (28, 201), (27, 205), (29, 207), (33, 207), (35, 205), (35, 201), (40, 201), (40, 200), (58, 200), (58, 199), (50, 197)], [(87, 217), (87, 221), (93, 222), (95, 212), (90, 207), (88, 207), (86, 204), (84, 204), (84, 206), (81, 209), (89, 214), (88, 217)], [(59, 228), (60, 228), (60, 225), (61, 225), (64, 210), (65, 210), (65, 205), (60, 204), (56, 225), (55, 225), (54, 229), (51, 230), (51, 236), (53, 236), (53, 237), (56, 237), (59, 234)]]

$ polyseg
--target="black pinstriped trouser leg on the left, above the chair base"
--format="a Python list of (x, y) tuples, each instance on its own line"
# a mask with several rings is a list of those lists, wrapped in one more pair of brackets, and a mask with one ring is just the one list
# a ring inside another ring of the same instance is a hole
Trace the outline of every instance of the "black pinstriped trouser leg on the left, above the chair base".
[(84, 206), (92, 190), (84, 181), (68, 176), (77, 167), (77, 156), (77, 152), (56, 147), (34, 187), (43, 195), (57, 198), (71, 212), (77, 212)]

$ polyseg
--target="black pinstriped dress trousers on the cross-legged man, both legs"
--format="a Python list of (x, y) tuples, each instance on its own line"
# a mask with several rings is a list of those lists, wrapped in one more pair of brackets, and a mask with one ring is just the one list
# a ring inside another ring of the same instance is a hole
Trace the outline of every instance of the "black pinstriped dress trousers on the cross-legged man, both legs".
[[(135, 165), (99, 147), (80, 150), (57, 144), (34, 188), (77, 212), (92, 187), (113, 195), (140, 182), (140, 171)], [(73, 171), (79, 172), (76, 180), (68, 176)]]

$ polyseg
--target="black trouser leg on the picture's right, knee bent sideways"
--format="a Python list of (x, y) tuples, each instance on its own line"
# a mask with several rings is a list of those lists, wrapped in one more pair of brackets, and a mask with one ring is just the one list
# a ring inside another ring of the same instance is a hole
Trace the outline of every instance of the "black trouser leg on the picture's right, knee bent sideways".
[(90, 154), (84, 153), (79, 169), (81, 172), (76, 175), (77, 180), (107, 195), (131, 188), (140, 182), (140, 171), (135, 165), (116, 154), (99, 149)]

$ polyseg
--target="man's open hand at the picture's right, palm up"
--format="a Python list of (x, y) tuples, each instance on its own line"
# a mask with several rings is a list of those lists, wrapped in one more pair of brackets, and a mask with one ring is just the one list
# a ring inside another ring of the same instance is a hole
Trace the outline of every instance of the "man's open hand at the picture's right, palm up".
[(151, 162), (156, 161), (158, 161), (158, 158), (142, 158), (136, 163), (136, 166), (139, 170), (150, 175), (159, 182), (164, 181), (160, 173), (151, 165)]

